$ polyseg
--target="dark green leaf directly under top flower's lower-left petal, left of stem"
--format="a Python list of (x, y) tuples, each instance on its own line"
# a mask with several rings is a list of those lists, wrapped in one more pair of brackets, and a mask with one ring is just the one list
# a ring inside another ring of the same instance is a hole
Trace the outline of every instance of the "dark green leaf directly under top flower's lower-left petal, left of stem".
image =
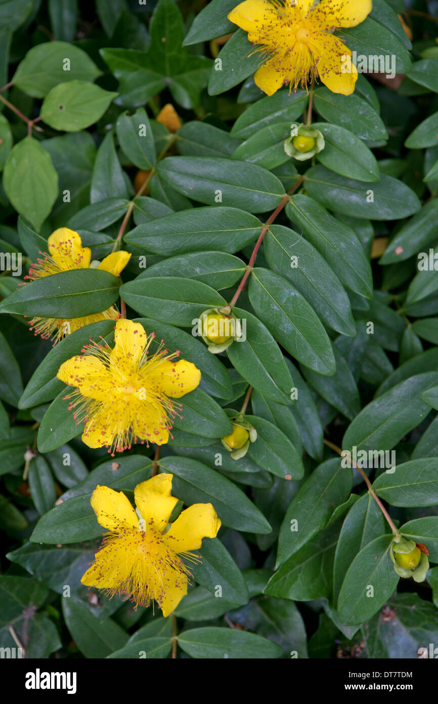
[(239, 139), (247, 139), (277, 122), (290, 124), (302, 115), (308, 100), (309, 96), (304, 90), (292, 94), (288, 90), (279, 90), (248, 106), (234, 122), (231, 134)]

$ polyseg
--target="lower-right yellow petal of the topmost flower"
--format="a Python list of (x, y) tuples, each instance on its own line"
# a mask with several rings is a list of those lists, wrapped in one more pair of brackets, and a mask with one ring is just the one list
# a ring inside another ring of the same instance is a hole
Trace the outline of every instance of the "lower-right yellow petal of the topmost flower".
[(322, 46), (322, 53), (316, 68), (321, 81), (332, 93), (351, 95), (357, 80), (357, 70), (353, 63), (346, 63), (345, 58), (351, 57), (352, 52), (333, 34), (318, 34), (318, 43)]

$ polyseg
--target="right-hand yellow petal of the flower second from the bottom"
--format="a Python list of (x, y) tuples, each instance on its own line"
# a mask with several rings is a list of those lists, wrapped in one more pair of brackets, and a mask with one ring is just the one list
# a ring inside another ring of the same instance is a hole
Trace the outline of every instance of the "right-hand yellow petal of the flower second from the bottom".
[(185, 359), (175, 362), (169, 359), (154, 363), (151, 360), (143, 367), (143, 376), (146, 384), (153, 384), (162, 394), (171, 398), (181, 398), (193, 389), (196, 389), (200, 380), (201, 372), (192, 362)]

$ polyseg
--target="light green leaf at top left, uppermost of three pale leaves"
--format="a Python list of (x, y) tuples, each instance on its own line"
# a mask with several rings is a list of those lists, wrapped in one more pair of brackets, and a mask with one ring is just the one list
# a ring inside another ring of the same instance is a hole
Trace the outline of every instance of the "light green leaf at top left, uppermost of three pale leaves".
[(101, 75), (94, 61), (79, 46), (45, 42), (33, 46), (20, 61), (12, 82), (33, 98), (44, 98), (59, 83), (94, 81)]

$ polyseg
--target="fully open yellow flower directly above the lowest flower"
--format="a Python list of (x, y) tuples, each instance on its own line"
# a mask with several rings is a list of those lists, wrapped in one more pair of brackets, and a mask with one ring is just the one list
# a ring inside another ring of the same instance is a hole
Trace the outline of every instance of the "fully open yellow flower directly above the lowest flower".
[(198, 386), (201, 372), (191, 362), (175, 361), (161, 341), (149, 353), (155, 334), (147, 335), (139, 322), (117, 320), (115, 346), (91, 341), (58, 370), (58, 379), (75, 386), (66, 396), (79, 422), (85, 422), (82, 441), (92, 448), (123, 452), (140, 441), (167, 443), (172, 420), (181, 408), (172, 401)]

